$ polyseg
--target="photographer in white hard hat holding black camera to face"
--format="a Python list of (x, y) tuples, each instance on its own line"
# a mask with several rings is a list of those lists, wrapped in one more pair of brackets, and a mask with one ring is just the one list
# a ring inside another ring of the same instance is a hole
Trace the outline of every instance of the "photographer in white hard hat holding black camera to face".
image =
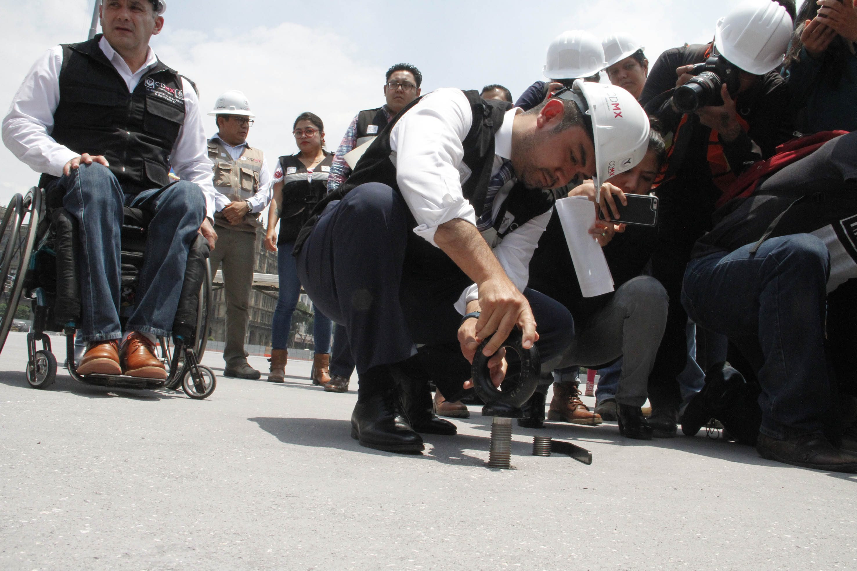
[(655, 190), (652, 275), (667, 289), (669, 316), (649, 383), (650, 424), (663, 434), (675, 433), (681, 402), (676, 377), (686, 366), (687, 316), (680, 290), (693, 243), (710, 229), (718, 199), (741, 170), (791, 134), (786, 84), (774, 71), (791, 26), (779, 3), (742, 3), (717, 22), (713, 42), (665, 51), (640, 98), (668, 140)]

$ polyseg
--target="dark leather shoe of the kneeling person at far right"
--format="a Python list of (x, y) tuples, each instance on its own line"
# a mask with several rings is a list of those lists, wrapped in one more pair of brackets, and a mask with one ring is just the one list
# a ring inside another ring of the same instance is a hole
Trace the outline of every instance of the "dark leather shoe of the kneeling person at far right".
[(857, 455), (837, 450), (824, 435), (818, 433), (785, 440), (759, 434), (756, 451), (763, 458), (793, 466), (857, 473)]

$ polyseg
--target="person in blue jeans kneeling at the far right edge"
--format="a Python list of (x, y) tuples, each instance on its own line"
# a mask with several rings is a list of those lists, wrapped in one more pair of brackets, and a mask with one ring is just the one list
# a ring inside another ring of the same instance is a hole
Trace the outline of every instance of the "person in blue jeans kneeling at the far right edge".
[[(836, 404), (854, 370), (835, 378), (842, 355), (827, 345), (842, 335), (833, 324), (854, 329), (855, 158), (857, 133), (839, 136), (730, 200), (694, 247), (681, 295), (693, 321), (728, 336), (756, 370), (759, 455), (851, 473), (857, 442)], [(839, 306), (850, 308), (844, 320)], [(854, 354), (853, 342), (842, 350)]]

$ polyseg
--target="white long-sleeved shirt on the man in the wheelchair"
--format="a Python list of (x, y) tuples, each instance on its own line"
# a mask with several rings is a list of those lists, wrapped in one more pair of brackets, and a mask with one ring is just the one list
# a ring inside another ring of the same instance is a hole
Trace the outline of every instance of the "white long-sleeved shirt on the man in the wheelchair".
[[(142, 76), (158, 62), (149, 48), (146, 63), (132, 72), (103, 36), (99, 47), (125, 80), (129, 92), (134, 91)], [(80, 156), (51, 138), (53, 114), (59, 105), (59, 73), (62, 68), (63, 47), (57, 45), (33, 63), (15, 93), (9, 113), (3, 118), (3, 144), (9, 151), (36, 172), (54, 176), (62, 176), (63, 166)], [(206, 197), (206, 216), (213, 220), (215, 195), (218, 193), (212, 184), (212, 162), (208, 158), (200, 101), (189, 80), (183, 77), (182, 84), (184, 124), (172, 147), (170, 164), (180, 179), (195, 182), (201, 187)]]

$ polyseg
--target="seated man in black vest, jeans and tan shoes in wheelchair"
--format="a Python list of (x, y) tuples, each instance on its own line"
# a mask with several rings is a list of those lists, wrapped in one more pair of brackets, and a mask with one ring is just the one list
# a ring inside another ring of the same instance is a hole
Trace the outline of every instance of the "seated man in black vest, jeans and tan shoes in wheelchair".
[[(47, 51), (3, 119), (3, 143), (43, 173), (39, 186), (49, 207), (62, 205), (77, 226), (78, 328), (87, 342), (81, 375), (165, 379), (156, 336), (171, 334), (195, 235), (212, 249), (217, 240), (195, 86), (148, 45), (164, 26), (165, 9), (164, 0), (106, 0), (103, 35)], [(180, 181), (170, 182), (171, 168)], [(123, 206), (147, 220), (136, 306), (124, 334)]]

